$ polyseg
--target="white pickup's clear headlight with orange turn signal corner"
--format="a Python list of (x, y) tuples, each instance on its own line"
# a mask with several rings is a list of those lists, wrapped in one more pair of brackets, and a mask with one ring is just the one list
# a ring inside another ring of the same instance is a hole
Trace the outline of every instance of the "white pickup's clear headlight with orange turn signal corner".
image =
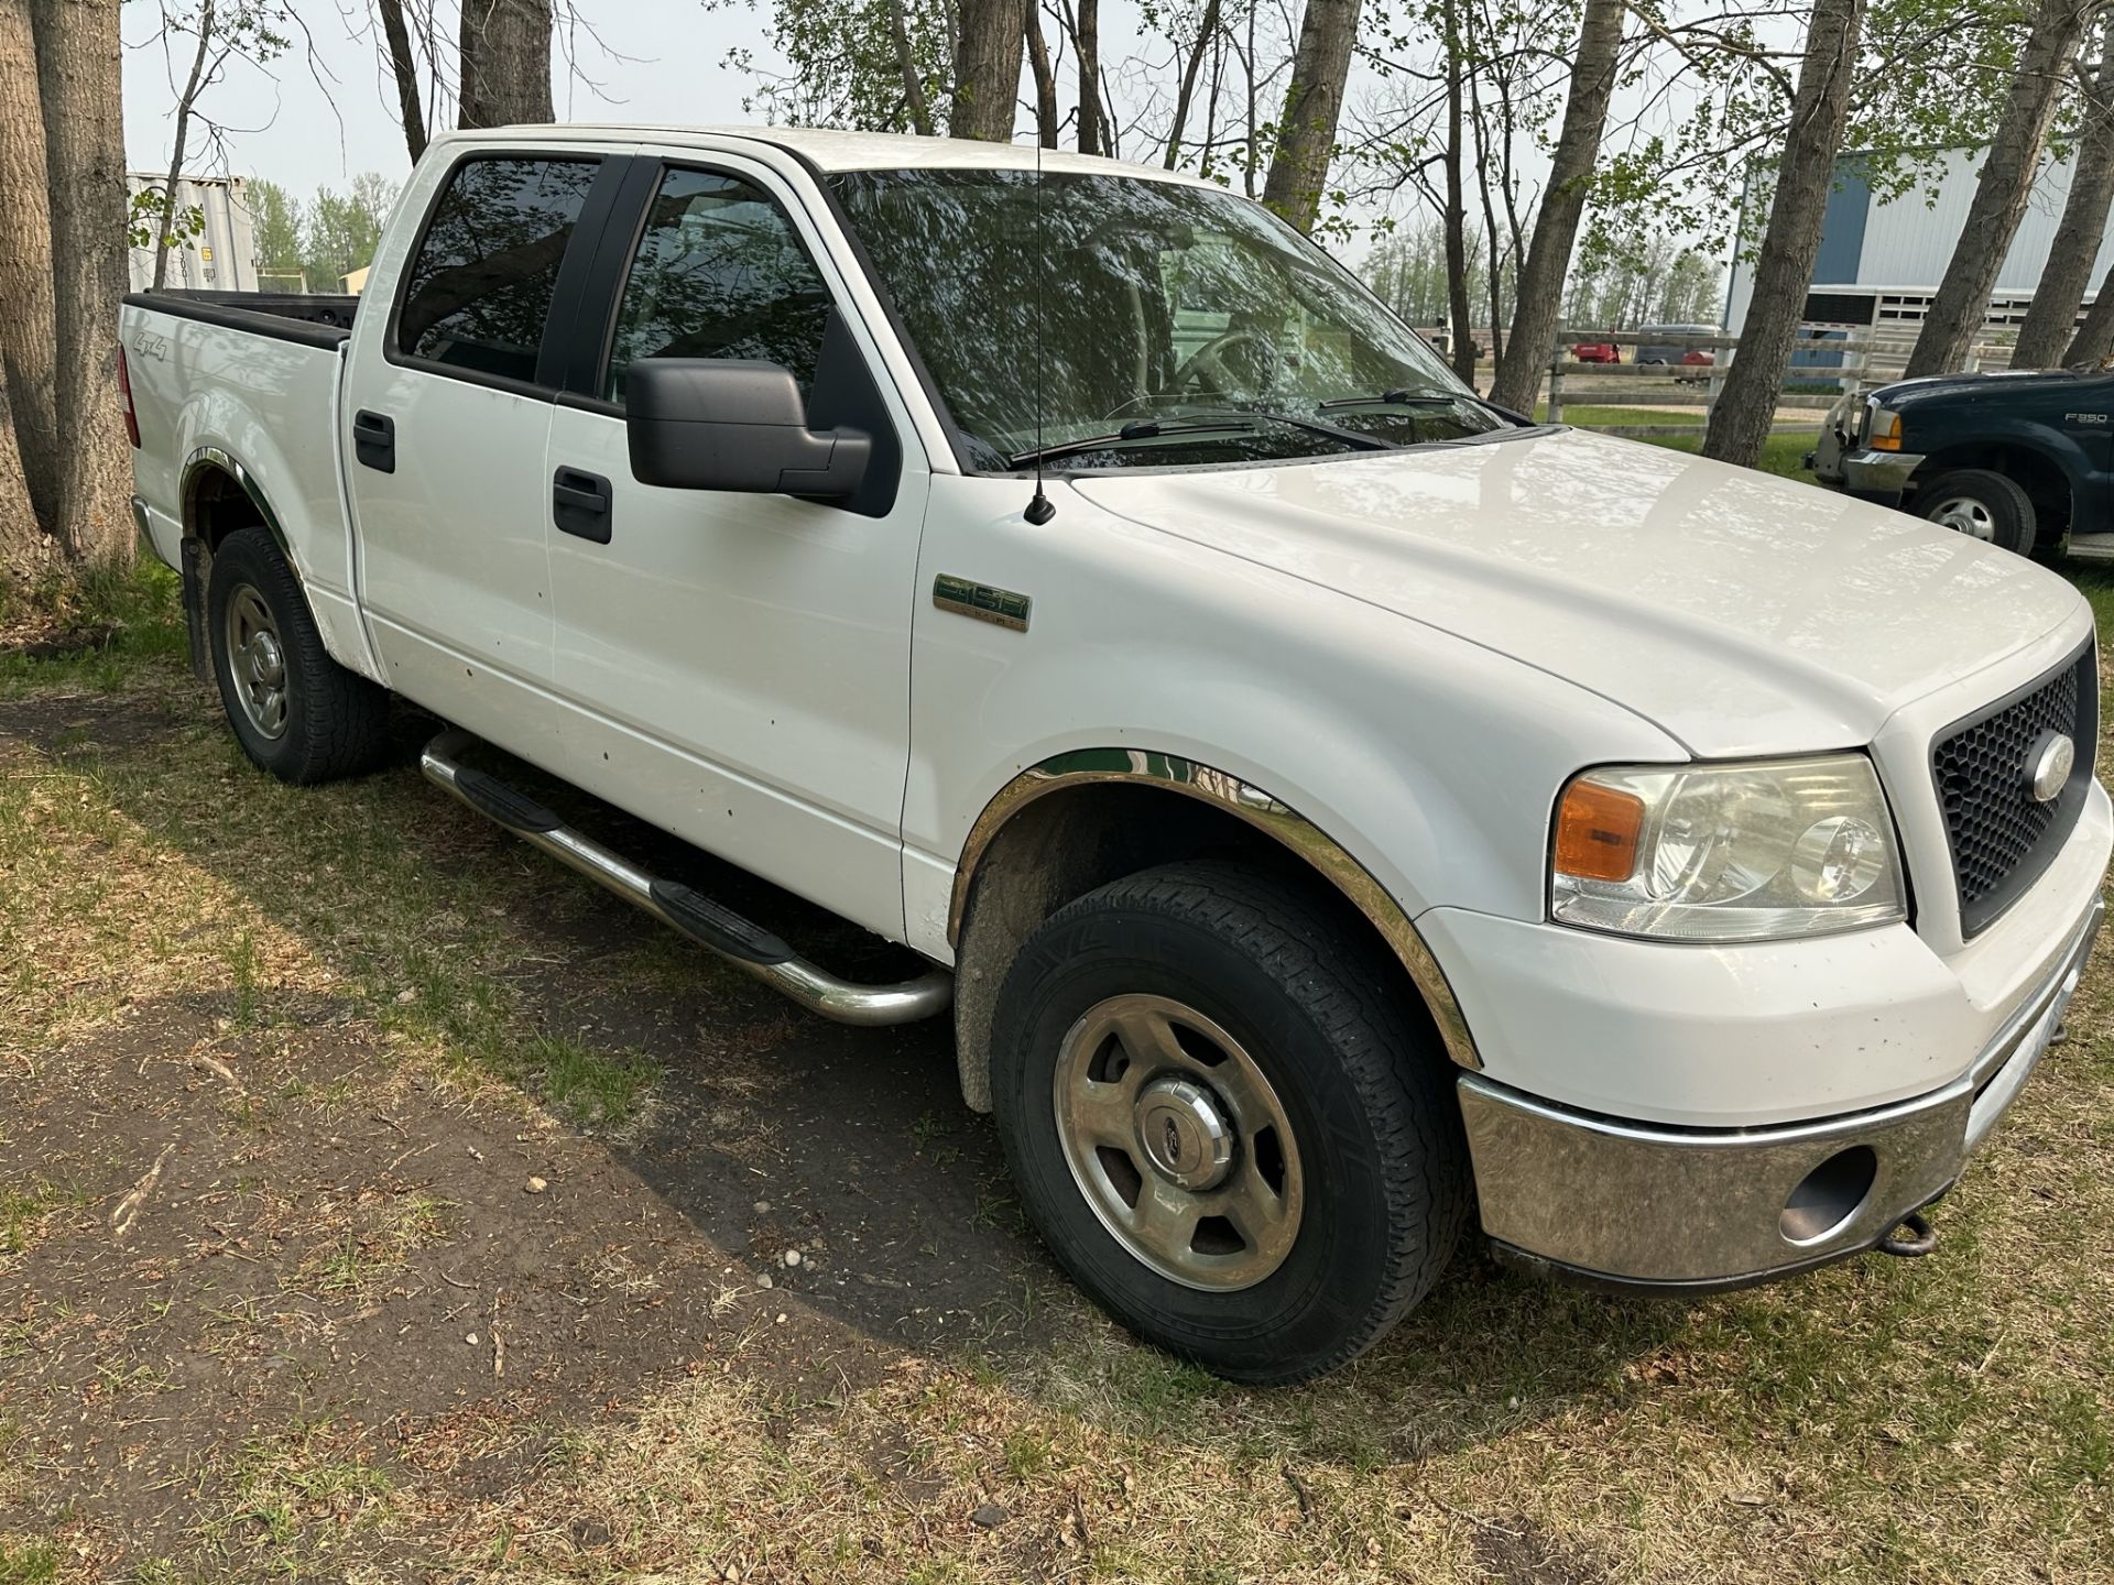
[(1865, 754), (1586, 771), (1556, 801), (1550, 913), (1666, 940), (1776, 940), (1907, 917)]

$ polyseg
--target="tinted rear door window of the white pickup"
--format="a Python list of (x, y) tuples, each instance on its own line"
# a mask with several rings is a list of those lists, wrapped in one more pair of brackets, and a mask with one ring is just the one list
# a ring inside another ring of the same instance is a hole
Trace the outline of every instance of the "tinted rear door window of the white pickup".
[(461, 165), (404, 277), (397, 351), (533, 380), (558, 264), (596, 169), (552, 158)]

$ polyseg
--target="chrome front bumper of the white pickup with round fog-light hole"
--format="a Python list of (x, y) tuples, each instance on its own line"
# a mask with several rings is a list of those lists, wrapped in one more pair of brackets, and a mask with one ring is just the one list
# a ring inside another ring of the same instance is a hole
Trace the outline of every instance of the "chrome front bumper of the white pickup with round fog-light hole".
[(1960, 1177), (2078, 989), (2106, 902), (1943, 1090), (1769, 1129), (1619, 1122), (1465, 1074), (1482, 1226), (1503, 1260), (1615, 1287), (1708, 1291), (1875, 1247)]

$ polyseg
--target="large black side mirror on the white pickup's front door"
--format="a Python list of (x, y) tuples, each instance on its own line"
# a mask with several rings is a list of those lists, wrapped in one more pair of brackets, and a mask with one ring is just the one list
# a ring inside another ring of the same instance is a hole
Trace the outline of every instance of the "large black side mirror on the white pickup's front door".
[(643, 357), (624, 376), (632, 476), (670, 490), (748, 490), (835, 501), (867, 476), (873, 442), (814, 433), (799, 383), (742, 357)]

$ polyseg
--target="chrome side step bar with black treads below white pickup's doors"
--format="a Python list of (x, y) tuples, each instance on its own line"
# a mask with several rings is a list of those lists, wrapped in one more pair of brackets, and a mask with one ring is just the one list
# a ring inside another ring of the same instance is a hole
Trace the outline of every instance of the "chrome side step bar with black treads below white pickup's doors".
[(719, 953), (744, 974), (769, 985), (803, 1008), (837, 1023), (879, 1027), (915, 1023), (945, 1012), (953, 1002), (953, 974), (934, 968), (903, 985), (854, 985), (799, 957), (778, 936), (750, 924), (679, 881), (664, 881), (626, 862), (598, 841), (579, 835), (535, 799), (516, 792), (495, 776), (463, 765), (457, 757), (478, 742), (463, 729), (440, 733), (419, 754), (419, 769), (486, 820), (505, 826), (560, 864), (569, 864), (626, 902), (645, 909), (700, 947)]

